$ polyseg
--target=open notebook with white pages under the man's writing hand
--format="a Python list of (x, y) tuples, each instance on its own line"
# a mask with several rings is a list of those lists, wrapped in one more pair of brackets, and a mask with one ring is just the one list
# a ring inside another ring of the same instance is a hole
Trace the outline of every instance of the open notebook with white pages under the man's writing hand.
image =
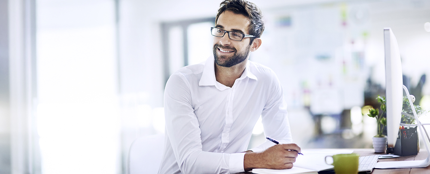
[(255, 174), (317, 174), (318, 171), (332, 170), (333, 165), (326, 164), (326, 156), (333, 156), (341, 153), (353, 153), (353, 150), (343, 149), (310, 149), (302, 150), (290, 169), (276, 170), (267, 168), (252, 169)]

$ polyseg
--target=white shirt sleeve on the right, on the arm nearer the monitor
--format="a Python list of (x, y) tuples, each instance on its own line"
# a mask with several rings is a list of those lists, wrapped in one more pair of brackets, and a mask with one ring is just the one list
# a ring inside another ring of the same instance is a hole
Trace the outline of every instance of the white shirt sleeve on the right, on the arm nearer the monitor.
[[(276, 141), (279, 141), (279, 143), (282, 144), (292, 143), (292, 135), (283, 89), (273, 71), (271, 71), (271, 75), (270, 95), (268, 96), (267, 103), (261, 113), (264, 135), (276, 139)], [(250, 150), (260, 152), (273, 145), (275, 145), (273, 142), (266, 140), (263, 144)]]

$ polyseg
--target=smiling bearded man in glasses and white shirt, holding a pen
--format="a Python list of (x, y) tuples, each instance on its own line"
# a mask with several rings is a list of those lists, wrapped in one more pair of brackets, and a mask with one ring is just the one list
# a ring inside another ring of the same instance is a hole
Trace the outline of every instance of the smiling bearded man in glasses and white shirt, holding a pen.
[[(244, 0), (224, 0), (220, 6), (211, 28), (214, 56), (178, 70), (167, 81), (160, 174), (292, 168), (301, 151), (288, 144), (286, 103), (276, 75), (248, 60), (261, 45), (261, 11)], [(266, 141), (246, 151), (260, 115), (265, 135), (281, 144)]]

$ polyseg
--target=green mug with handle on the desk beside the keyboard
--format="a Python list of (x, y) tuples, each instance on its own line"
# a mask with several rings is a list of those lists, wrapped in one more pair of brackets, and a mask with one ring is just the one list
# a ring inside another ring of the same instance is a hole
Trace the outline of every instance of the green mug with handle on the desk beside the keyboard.
[[(333, 158), (333, 163), (329, 164), (327, 162), (327, 157)], [(337, 154), (333, 156), (326, 156), (326, 163), (328, 165), (335, 166), (336, 174), (357, 174), (358, 173), (358, 158), (359, 154)]]

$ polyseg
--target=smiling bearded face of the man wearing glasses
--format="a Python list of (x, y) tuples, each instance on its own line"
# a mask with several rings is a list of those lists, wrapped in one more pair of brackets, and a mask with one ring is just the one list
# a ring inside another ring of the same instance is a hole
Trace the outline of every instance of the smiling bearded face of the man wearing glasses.
[[(244, 15), (235, 14), (231, 11), (224, 11), (219, 15), (215, 27), (226, 31), (235, 31), (243, 34), (248, 33), (249, 19)], [(214, 36), (213, 53), (215, 63), (218, 66), (231, 67), (243, 62), (248, 58), (249, 38), (243, 38), (242, 41), (235, 41), (225, 33), (223, 37)]]

